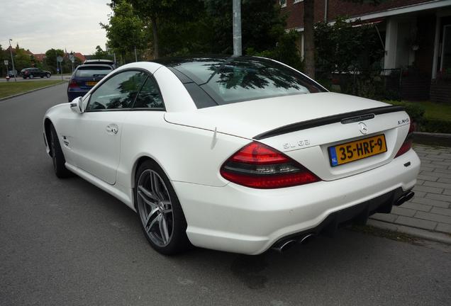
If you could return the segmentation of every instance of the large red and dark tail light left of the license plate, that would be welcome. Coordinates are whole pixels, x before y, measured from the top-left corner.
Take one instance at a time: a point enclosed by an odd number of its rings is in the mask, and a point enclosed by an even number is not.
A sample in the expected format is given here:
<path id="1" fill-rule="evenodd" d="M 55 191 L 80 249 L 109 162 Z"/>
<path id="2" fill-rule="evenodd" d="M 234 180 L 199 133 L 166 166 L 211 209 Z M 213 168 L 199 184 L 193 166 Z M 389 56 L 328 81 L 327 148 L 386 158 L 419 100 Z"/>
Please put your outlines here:
<path id="1" fill-rule="evenodd" d="M 321 181 L 285 154 L 251 142 L 233 154 L 221 167 L 224 179 L 251 188 L 283 188 Z"/>

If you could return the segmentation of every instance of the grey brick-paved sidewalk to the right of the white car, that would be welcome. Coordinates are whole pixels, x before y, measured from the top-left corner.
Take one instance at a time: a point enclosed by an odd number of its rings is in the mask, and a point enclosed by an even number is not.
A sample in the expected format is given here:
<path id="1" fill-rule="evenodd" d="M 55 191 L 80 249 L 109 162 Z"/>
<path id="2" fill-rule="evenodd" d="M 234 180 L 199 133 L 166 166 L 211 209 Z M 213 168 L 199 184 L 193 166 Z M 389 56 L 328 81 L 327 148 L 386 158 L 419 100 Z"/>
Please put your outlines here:
<path id="1" fill-rule="evenodd" d="M 421 159 L 415 196 L 372 219 L 451 234 L 451 147 L 415 145 Z"/>

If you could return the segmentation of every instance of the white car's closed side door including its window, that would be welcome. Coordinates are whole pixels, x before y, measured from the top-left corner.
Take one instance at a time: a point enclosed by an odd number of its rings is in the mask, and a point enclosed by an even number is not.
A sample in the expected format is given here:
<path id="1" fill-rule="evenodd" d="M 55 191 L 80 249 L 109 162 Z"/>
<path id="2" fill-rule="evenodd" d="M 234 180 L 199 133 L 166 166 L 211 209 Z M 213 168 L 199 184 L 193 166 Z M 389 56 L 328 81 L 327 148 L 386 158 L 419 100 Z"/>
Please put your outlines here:
<path id="1" fill-rule="evenodd" d="M 80 169 L 116 183 L 123 120 L 146 76 L 136 70 L 119 72 L 91 94 L 73 131 L 72 151 Z"/>

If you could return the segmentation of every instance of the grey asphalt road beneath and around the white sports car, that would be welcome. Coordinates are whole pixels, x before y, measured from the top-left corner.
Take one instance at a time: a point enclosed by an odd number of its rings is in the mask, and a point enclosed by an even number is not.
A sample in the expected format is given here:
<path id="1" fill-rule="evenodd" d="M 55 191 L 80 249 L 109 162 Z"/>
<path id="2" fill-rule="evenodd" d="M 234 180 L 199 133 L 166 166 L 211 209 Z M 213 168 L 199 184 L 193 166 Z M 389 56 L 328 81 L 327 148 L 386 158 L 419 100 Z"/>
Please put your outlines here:
<path id="1" fill-rule="evenodd" d="M 41 120 L 65 89 L 0 102 L 0 305 L 451 305 L 450 246 L 342 229 L 284 254 L 157 254 L 126 205 L 53 174 Z"/>

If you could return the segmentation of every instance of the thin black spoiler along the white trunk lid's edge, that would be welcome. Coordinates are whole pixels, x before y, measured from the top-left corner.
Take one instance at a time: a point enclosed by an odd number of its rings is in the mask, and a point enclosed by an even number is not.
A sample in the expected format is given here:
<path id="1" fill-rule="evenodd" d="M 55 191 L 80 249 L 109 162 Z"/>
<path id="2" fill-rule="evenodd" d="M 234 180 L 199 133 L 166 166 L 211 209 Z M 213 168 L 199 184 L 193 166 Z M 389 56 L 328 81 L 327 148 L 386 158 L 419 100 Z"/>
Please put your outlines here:
<path id="1" fill-rule="evenodd" d="M 312 120 L 302 121 L 300 123 L 291 123 L 289 125 L 284 125 L 280 128 L 275 128 L 267 132 L 262 132 L 261 134 L 253 137 L 255 140 L 262 140 L 265 138 L 286 134 L 289 132 L 296 132 L 299 130 L 306 130 L 308 128 L 315 128 L 321 125 L 328 125 L 331 123 L 353 123 L 362 120 L 368 120 L 374 118 L 375 115 L 380 115 L 384 113 L 395 113 L 398 111 L 404 111 L 403 106 L 382 106 L 378 108 L 367 108 L 361 111 L 352 111 L 348 113 L 340 113 L 338 115 L 330 115 L 326 117 L 316 118 Z"/>

